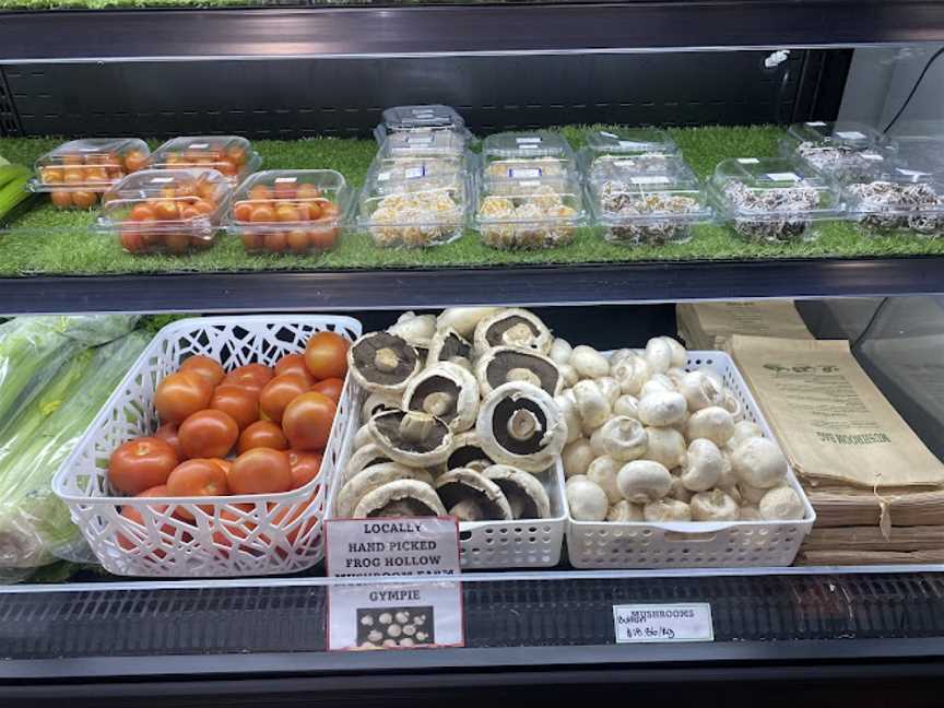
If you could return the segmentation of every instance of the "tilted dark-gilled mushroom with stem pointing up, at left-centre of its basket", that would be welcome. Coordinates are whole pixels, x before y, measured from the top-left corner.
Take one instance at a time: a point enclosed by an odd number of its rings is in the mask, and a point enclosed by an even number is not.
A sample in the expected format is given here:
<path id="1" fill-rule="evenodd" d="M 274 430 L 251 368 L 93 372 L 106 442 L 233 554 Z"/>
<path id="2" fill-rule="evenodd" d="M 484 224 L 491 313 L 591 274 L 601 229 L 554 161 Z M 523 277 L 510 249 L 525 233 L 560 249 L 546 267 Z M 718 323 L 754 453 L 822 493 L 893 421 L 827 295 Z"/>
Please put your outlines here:
<path id="1" fill-rule="evenodd" d="M 390 411 L 370 418 L 370 434 L 390 459 L 410 467 L 445 462 L 452 432 L 442 421 L 417 411 Z"/>

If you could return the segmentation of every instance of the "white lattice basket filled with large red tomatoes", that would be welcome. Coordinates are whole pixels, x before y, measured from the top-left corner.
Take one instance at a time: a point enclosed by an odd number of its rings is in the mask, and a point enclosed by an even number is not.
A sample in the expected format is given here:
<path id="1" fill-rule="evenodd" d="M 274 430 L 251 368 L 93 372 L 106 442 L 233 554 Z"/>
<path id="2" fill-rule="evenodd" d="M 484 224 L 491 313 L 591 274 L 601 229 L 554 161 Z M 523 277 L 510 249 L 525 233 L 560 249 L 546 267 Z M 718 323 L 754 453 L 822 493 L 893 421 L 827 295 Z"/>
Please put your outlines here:
<path id="1" fill-rule="evenodd" d="M 359 334 L 329 316 L 162 329 L 52 482 L 105 569 L 236 577 L 320 562 Z"/>

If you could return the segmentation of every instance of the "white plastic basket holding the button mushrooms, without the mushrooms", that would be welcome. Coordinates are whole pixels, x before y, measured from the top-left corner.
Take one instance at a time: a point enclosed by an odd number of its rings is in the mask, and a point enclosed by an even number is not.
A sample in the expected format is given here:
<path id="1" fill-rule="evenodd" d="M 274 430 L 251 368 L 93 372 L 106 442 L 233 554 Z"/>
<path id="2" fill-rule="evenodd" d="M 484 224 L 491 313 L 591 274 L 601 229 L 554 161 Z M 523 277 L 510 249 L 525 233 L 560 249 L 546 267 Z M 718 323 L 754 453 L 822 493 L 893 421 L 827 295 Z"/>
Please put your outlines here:
<path id="1" fill-rule="evenodd" d="M 686 370 L 717 374 L 764 435 L 776 440 L 731 357 L 688 352 Z M 792 469 L 788 484 L 803 502 L 802 521 L 685 521 L 673 523 L 576 521 L 568 510 L 567 553 L 577 568 L 740 568 L 789 566 L 816 512 Z"/>

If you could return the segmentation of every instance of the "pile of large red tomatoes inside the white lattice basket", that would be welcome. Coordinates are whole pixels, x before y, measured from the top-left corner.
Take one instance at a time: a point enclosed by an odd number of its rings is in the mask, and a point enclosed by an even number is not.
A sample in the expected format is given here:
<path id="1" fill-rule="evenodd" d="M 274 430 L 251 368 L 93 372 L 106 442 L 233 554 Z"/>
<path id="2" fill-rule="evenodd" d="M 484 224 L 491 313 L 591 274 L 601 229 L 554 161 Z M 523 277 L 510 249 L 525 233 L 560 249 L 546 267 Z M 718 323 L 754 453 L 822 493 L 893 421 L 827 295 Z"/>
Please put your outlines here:
<path id="1" fill-rule="evenodd" d="M 349 346 L 343 337 L 326 331 L 314 334 L 304 352 L 286 354 L 274 366 L 253 363 L 227 371 L 208 356 L 184 359 L 155 390 L 156 432 L 111 452 L 113 492 L 182 505 L 234 495 L 264 499 L 306 486 L 321 468 L 347 374 Z M 212 504 L 199 508 L 212 509 Z M 141 523 L 141 511 L 132 505 L 125 505 L 121 516 Z M 174 517 L 194 521 L 185 506 Z M 130 550 L 132 543 L 122 539 L 119 545 Z"/>

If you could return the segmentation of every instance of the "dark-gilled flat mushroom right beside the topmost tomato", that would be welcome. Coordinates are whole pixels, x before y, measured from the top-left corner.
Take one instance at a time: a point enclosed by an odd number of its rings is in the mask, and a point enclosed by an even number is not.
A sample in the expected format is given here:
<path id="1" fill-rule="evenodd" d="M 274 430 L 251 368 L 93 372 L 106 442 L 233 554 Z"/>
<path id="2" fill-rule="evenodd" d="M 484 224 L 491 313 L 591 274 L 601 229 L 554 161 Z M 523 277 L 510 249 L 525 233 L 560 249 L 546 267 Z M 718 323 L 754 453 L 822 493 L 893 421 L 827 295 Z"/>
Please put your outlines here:
<path id="1" fill-rule="evenodd" d="M 420 354 L 402 337 L 373 332 L 347 350 L 347 367 L 361 388 L 371 392 L 400 394 L 416 371 Z"/>

